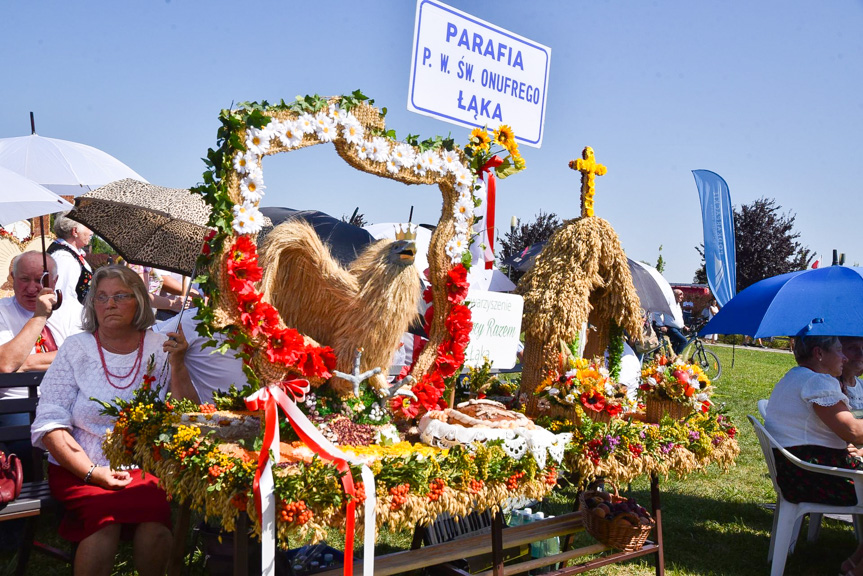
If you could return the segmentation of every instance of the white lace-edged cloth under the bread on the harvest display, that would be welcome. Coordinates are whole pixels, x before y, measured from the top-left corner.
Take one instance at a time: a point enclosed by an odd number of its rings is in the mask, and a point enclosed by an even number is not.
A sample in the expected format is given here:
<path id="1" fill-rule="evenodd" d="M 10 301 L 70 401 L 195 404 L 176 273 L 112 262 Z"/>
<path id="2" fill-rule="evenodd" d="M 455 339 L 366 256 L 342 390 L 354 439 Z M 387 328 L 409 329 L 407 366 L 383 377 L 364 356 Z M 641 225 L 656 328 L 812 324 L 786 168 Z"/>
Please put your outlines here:
<path id="1" fill-rule="evenodd" d="M 572 434 L 553 434 L 545 428 L 483 428 L 474 426 L 466 428 L 457 424 L 448 424 L 428 414 L 420 418 L 420 440 L 430 446 L 452 448 L 464 446 L 474 449 L 474 442 L 485 443 L 489 440 L 503 440 L 503 450 L 514 460 L 530 452 L 537 466 L 545 467 L 547 455 L 558 464 L 563 459 L 563 451 Z"/>

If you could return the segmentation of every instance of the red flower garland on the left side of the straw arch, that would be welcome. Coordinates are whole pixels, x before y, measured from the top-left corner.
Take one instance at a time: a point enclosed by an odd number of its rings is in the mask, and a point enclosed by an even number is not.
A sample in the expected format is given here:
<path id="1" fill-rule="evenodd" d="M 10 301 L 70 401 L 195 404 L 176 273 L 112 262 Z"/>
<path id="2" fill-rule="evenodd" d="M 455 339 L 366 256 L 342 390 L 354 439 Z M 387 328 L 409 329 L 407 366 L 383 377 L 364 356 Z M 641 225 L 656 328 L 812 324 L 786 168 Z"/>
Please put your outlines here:
<path id="1" fill-rule="evenodd" d="M 237 296 L 240 323 L 252 338 L 266 339 L 267 359 L 298 369 L 304 376 L 330 378 L 336 355 L 329 346 L 309 346 L 293 328 L 279 326 L 279 312 L 264 302 L 255 283 L 263 277 L 258 248 L 249 236 L 238 236 L 228 252 L 228 286 Z"/>

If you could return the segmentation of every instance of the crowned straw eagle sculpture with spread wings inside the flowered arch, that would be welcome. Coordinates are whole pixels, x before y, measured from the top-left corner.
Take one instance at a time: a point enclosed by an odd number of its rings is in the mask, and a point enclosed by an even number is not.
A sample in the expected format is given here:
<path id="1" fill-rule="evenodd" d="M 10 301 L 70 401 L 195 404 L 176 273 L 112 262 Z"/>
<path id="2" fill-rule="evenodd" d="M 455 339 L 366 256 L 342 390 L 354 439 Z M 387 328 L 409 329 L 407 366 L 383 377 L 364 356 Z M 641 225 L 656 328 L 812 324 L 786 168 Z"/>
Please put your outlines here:
<path id="1" fill-rule="evenodd" d="M 412 239 L 378 240 L 342 266 L 303 220 L 279 224 L 261 248 L 264 299 L 287 326 L 331 346 L 336 370 L 351 374 L 357 349 L 360 370 L 380 367 L 369 378 L 373 388 L 387 387 L 385 374 L 417 314 L 419 273 L 413 265 Z M 334 377 L 331 386 L 348 395 L 353 385 Z"/>

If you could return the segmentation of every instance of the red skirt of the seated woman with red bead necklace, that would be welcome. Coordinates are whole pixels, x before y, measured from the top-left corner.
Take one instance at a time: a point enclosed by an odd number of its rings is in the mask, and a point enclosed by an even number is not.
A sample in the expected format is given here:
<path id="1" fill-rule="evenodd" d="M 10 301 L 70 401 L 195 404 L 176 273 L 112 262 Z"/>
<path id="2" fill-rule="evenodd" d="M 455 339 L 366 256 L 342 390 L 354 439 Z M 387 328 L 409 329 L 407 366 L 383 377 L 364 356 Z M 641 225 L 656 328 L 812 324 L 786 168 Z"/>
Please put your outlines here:
<path id="1" fill-rule="evenodd" d="M 70 542 L 80 542 L 111 524 L 122 524 L 122 538 L 129 540 L 135 525 L 159 522 L 171 529 L 168 495 L 152 474 L 129 470 L 132 482 L 121 490 L 105 490 L 84 481 L 61 466 L 48 466 L 51 495 L 63 504 L 65 512 L 59 534 Z"/>

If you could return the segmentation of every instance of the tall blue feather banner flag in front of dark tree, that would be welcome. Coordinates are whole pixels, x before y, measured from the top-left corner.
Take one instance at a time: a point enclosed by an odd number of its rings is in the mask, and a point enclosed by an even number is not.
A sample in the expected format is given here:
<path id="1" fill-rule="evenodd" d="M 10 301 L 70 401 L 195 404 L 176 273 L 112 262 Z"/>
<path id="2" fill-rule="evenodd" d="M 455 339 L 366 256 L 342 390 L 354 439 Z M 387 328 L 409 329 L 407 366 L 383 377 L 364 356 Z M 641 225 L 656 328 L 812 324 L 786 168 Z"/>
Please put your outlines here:
<path id="1" fill-rule="evenodd" d="M 707 283 L 720 306 L 737 292 L 734 212 L 728 184 L 710 170 L 693 170 L 704 223 L 704 263 Z"/>

